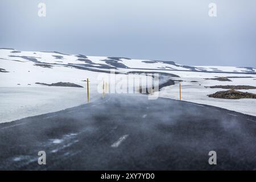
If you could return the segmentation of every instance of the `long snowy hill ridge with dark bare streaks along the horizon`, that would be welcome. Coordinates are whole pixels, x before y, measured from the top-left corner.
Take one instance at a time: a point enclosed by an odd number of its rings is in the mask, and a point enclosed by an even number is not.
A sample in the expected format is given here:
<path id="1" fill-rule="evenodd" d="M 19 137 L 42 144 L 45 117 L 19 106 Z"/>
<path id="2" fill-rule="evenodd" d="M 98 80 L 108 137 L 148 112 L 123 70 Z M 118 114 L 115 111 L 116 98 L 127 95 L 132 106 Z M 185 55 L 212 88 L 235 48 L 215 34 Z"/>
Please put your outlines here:
<path id="1" fill-rule="evenodd" d="M 73 67 L 88 69 L 90 71 L 104 69 L 154 69 L 170 71 L 194 71 L 194 72 L 236 72 L 256 73 L 255 68 L 241 67 L 216 67 L 176 64 L 174 61 L 137 60 L 126 57 L 98 57 L 84 55 L 68 55 L 60 52 L 30 52 L 15 49 L 0 48 L 0 59 L 20 62 L 31 62 L 40 67 Z M 4 69 L 4 68 L 2 68 Z"/>

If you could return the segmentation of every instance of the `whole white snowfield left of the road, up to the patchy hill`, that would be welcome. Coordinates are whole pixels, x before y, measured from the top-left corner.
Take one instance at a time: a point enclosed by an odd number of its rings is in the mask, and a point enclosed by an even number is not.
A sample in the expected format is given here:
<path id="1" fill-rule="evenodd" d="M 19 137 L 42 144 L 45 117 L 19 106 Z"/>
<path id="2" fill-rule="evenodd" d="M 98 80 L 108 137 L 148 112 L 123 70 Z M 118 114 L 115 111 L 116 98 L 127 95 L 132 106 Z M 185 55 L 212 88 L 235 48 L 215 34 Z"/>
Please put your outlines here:
<path id="1" fill-rule="evenodd" d="M 43 68 L 29 62 L 0 62 L 0 67 L 9 71 L 0 73 L 0 122 L 10 122 L 85 104 L 86 82 L 82 80 L 86 78 L 90 80 L 92 101 L 96 99 L 96 72 L 67 67 Z M 72 82 L 84 88 L 43 86 L 35 82 Z"/>

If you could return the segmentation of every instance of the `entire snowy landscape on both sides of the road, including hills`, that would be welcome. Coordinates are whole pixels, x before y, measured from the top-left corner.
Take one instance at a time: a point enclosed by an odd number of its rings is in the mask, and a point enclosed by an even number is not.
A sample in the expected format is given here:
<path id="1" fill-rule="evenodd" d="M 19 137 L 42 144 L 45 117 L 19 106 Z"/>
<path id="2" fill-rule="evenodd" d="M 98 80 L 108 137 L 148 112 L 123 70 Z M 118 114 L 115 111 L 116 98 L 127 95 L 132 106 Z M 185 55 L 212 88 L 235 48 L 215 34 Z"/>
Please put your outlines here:
<path id="1" fill-rule="evenodd" d="M 225 89 L 205 88 L 205 86 L 214 85 L 256 86 L 254 68 L 186 67 L 166 61 L 65 55 L 57 52 L 28 52 L 13 49 L 0 49 L 0 68 L 7 71 L 0 72 L 0 123 L 86 104 L 86 82 L 84 81 L 86 78 L 89 78 L 90 81 L 90 102 L 93 102 L 102 96 L 97 91 L 98 85 L 102 85 L 102 78 L 99 76 L 102 75 L 102 71 L 109 71 L 110 68 L 115 68 L 117 72 L 121 73 L 130 71 L 172 73 L 180 76 L 171 77 L 172 80 L 182 80 L 182 100 L 256 116 L 256 100 L 209 98 L 208 94 Z M 105 73 L 105 75 L 109 76 L 110 74 Z M 120 80 L 118 77 L 121 77 L 122 74 L 115 76 L 116 80 Z M 204 79 L 220 76 L 251 76 L 253 78 L 229 78 L 232 82 Z M 137 75 L 134 75 L 134 78 L 137 79 Z M 35 82 L 46 84 L 72 82 L 84 86 L 84 88 L 43 86 L 35 84 Z M 256 93 L 255 89 L 241 91 Z M 175 85 L 162 88 L 159 96 L 179 99 L 178 82 Z"/>

